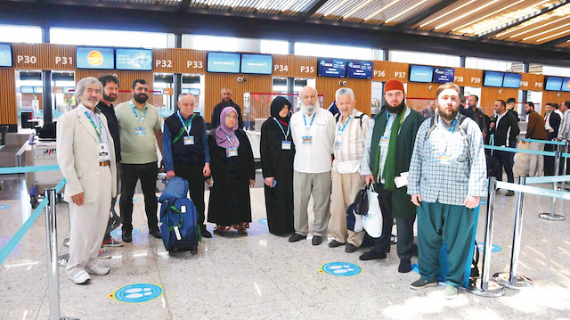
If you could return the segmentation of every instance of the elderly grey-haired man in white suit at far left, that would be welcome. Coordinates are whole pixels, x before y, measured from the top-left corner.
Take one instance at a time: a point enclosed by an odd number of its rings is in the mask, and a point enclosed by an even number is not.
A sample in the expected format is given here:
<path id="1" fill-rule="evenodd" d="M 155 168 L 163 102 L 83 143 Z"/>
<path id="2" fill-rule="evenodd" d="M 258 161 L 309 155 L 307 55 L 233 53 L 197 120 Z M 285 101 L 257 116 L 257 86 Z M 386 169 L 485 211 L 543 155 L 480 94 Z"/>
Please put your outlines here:
<path id="1" fill-rule="evenodd" d="M 107 119 L 96 107 L 102 94 L 97 78 L 77 82 L 77 108 L 57 123 L 57 162 L 65 177 L 64 200 L 69 202 L 69 261 L 65 269 L 77 284 L 89 274 L 107 275 L 95 265 L 107 221 L 109 203 L 117 194 L 115 147 Z"/>

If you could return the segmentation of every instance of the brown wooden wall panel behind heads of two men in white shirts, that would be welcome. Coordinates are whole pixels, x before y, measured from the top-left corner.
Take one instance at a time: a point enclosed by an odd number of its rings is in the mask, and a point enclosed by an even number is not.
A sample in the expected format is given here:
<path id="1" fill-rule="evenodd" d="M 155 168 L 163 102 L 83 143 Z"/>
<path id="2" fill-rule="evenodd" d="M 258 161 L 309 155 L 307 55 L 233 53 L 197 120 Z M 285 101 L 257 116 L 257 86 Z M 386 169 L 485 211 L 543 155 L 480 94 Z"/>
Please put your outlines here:
<path id="1" fill-rule="evenodd" d="M 316 79 L 317 91 L 324 96 L 323 108 L 327 108 L 330 103 L 335 101 L 337 90 L 343 86 L 338 85 L 338 81 L 346 81 L 346 86 L 353 89 L 354 100 L 356 100 L 356 109 L 362 111 L 369 116 L 371 115 L 371 80 L 354 79 L 354 78 L 325 78 Z"/>

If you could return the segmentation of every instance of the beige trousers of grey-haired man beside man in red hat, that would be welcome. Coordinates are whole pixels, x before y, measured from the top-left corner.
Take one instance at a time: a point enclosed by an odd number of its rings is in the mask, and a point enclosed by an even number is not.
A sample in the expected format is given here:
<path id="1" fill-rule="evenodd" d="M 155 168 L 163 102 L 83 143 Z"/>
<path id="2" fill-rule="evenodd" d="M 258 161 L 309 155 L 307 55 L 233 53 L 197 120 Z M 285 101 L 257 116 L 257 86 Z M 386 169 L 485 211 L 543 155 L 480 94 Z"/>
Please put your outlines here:
<path id="1" fill-rule="evenodd" d="M 332 170 L 332 204 L 329 233 L 340 243 L 351 243 L 360 247 L 364 231 L 355 233 L 346 229 L 346 209 L 354 202 L 354 197 L 364 187 L 364 178 L 358 173 L 340 174 Z"/>

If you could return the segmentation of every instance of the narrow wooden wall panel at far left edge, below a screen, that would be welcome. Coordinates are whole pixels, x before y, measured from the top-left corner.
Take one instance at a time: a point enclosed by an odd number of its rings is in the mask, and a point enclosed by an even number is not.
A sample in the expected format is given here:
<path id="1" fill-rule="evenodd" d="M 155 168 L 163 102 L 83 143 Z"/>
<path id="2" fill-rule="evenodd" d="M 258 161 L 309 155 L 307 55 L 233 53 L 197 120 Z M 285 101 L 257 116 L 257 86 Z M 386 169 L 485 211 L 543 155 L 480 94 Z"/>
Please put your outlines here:
<path id="1" fill-rule="evenodd" d="M 0 124 L 18 123 L 16 108 L 16 73 L 12 68 L 0 68 Z"/>

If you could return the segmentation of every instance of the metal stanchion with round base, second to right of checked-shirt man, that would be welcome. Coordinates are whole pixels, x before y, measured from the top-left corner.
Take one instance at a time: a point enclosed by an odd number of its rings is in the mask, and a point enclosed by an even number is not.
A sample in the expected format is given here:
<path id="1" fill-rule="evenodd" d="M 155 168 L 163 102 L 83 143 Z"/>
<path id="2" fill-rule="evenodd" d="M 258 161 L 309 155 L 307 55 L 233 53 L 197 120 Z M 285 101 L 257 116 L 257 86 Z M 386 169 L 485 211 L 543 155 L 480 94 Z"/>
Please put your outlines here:
<path id="1" fill-rule="evenodd" d="M 525 185 L 525 176 L 518 177 L 518 185 Z M 513 245 L 510 253 L 510 272 L 496 273 L 493 281 L 501 283 L 509 289 L 523 289 L 533 287 L 533 281 L 524 275 L 517 275 L 518 256 L 520 255 L 521 235 L 523 234 L 523 205 L 525 193 L 517 191 L 517 207 L 515 209 L 515 231 L 513 234 Z"/>

